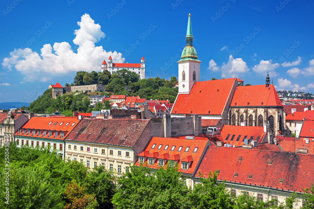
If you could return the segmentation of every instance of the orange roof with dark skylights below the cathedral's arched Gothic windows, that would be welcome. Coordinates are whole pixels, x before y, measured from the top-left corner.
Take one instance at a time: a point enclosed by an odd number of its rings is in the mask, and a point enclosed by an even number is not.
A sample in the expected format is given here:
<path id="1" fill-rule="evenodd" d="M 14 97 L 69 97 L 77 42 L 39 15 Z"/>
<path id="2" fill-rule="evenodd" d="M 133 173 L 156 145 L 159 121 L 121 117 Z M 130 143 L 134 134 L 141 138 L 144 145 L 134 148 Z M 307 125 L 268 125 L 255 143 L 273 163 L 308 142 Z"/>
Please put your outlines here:
<path id="1" fill-rule="evenodd" d="M 222 142 L 225 144 L 233 144 L 238 146 L 242 146 L 244 144 L 244 137 L 246 136 L 247 139 L 253 137 L 252 140 L 257 140 L 257 143 L 262 143 L 263 138 L 265 137 L 266 132 L 264 132 L 264 127 L 260 126 L 231 126 L 231 125 L 224 125 L 221 129 L 221 139 Z M 228 136 L 229 135 L 229 136 Z M 240 138 L 239 138 L 240 136 Z M 228 139 L 227 139 L 228 138 Z M 227 139 L 227 140 L 226 140 Z M 252 141 L 250 140 L 250 142 Z"/>

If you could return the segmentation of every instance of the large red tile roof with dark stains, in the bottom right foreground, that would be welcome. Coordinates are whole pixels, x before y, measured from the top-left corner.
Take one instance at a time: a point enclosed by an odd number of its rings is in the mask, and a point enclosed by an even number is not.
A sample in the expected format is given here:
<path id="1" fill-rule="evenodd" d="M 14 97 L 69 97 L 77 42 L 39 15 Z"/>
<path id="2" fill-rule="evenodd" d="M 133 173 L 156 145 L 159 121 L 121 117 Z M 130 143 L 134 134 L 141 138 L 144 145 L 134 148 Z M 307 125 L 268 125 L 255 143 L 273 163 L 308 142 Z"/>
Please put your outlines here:
<path id="1" fill-rule="evenodd" d="M 239 157 L 242 158 L 239 161 Z M 272 161 L 268 165 L 268 161 Z M 313 155 L 257 149 L 209 147 L 195 176 L 220 170 L 218 179 L 303 192 L 314 181 Z M 235 176 L 235 173 L 238 173 Z M 248 178 L 252 175 L 252 178 Z M 279 183 L 283 179 L 283 183 Z"/>

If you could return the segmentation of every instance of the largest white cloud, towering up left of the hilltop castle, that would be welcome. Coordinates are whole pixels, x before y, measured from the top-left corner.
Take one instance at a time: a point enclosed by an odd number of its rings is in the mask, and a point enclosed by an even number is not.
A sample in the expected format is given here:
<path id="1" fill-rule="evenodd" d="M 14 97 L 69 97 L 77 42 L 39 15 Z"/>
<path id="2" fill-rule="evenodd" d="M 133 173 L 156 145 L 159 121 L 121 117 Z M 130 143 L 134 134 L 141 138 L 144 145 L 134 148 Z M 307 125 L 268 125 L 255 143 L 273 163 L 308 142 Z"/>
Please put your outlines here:
<path id="1" fill-rule="evenodd" d="M 95 46 L 100 39 L 105 38 L 99 24 L 84 14 L 80 27 L 74 31 L 76 35 L 73 43 L 78 45 L 77 53 L 73 52 L 67 42 L 54 43 L 53 46 L 45 44 L 41 48 L 41 56 L 29 48 L 14 49 L 10 57 L 3 59 L 3 67 L 11 71 L 15 68 L 26 75 L 23 81 L 34 81 L 38 78 L 47 80 L 48 76 L 60 76 L 63 73 L 76 71 L 100 71 L 103 60 L 111 57 L 113 62 L 124 62 L 122 54 L 116 51 L 107 52 L 102 46 Z M 31 75 L 31 76 L 30 76 Z"/>

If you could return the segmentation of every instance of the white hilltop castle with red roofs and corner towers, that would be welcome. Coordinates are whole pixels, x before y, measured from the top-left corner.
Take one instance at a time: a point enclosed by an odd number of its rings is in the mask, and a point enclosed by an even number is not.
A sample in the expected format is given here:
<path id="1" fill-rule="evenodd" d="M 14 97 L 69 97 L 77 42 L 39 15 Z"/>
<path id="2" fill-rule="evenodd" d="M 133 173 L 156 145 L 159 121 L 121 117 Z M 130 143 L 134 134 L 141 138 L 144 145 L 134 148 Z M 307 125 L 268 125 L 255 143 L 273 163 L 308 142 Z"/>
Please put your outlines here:
<path id="1" fill-rule="evenodd" d="M 109 56 L 108 65 L 105 60 L 101 65 L 101 72 L 107 70 L 111 73 L 111 75 L 112 73 L 122 69 L 134 72 L 139 75 L 140 79 L 143 79 L 145 78 L 145 59 L 142 57 L 141 63 L 114 63 L 112 61 L 112 57 Z"/>

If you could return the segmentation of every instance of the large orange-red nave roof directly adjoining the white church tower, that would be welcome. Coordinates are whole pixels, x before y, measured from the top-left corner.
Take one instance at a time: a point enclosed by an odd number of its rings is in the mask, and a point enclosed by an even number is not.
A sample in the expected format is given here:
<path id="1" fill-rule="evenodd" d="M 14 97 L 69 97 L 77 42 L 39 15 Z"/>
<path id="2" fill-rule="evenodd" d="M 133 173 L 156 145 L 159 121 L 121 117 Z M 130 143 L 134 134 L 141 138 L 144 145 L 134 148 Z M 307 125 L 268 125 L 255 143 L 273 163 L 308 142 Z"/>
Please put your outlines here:
<path id="1" fill-rule="evenodd" d="M 229 78 L 195 82 L 189 94 L 178 94 L 171 114 L 221 115 L 229 108 L 225 106 L 232 97 L 235 81 Z"/>

